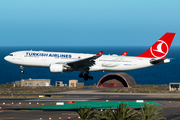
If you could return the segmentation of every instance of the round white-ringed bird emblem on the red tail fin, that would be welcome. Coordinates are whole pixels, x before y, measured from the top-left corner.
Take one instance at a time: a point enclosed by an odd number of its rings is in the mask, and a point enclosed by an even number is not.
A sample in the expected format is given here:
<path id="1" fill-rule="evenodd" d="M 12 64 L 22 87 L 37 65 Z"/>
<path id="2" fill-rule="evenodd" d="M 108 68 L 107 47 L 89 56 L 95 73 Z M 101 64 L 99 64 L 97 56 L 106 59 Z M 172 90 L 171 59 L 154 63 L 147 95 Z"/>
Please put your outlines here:
<path id="1" fill-rule="evenodd" d="M 158 40 L 157 43 L 150 48 L 150 51 L 154 57 L 163 58 L 167 55 L 168 49 L 166 42 Z"/>

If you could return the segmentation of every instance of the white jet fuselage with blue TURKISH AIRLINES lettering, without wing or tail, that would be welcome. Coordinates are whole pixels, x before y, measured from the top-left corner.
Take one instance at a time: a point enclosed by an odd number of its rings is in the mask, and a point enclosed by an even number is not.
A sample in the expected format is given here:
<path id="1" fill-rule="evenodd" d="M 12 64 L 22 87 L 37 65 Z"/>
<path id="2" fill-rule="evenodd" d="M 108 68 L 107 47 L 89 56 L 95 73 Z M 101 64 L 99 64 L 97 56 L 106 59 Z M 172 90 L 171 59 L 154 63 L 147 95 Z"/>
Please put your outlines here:
<path id="1" fill-rule="evenodd" d="M 47 67 L 51 64 L 65 64 L 93 56 L 94 54 L 44 52 L 44 51 L 18 51 L 13 52 L 4 59 L 10 63 L 28 67 Z M 102 55 L 89 67 L 89 71 L 129 71 L 154 66 L 150 63 L 152 58 L 129 57 L 118 55 Z M 78 71 L 78 69 L 73 69 Z"/>

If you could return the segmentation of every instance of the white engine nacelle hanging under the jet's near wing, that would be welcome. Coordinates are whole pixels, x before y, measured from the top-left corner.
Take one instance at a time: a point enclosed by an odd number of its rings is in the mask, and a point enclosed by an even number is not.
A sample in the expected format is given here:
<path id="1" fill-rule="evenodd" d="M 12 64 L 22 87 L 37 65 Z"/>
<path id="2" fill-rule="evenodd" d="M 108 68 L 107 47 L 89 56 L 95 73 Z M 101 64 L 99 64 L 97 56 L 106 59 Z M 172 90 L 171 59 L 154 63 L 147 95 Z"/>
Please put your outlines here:
<path id="1" fill-rule="evenodd" d="M 72 72 L 73 69 L 64 64 L 51 64 L 49 66 L 50 72 Z"/>

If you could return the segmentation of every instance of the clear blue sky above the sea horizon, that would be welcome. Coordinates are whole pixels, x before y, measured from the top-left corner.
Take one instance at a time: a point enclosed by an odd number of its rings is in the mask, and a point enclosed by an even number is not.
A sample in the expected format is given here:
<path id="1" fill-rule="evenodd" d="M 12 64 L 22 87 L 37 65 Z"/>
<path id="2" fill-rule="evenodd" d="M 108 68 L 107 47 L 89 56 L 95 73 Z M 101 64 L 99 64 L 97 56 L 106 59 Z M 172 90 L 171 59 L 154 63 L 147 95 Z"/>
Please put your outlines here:
<path id="1" fill-rule="evenodd" d="M 175 32 L 180 0 L 0 0 L 0 46 L 151 46 Z"/>

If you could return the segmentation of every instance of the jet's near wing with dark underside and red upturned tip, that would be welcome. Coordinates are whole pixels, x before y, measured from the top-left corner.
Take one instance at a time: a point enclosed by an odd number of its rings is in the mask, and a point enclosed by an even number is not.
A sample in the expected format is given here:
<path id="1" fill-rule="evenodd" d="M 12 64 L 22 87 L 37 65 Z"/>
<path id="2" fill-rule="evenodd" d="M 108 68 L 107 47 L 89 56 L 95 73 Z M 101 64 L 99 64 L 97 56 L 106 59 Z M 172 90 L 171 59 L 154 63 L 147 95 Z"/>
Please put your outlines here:
<path id="1" fill-rule="evenodd" d="M 70 61 L 70 62 L 67 62 L 66 64 L 71 67 L 78 67 L 78 66 L 90 67 L 93 64 L 95 64 L 95 60 L 97 58 L 99 58 L 100 56 L 102 56 L 102 54 L 103 54 L 103 51 L 100 51 L 98 54 L 96 54 L 92 57 L 83 58 L 83 59 L 79 59 L 79 60 L 75 60 L 75 61 Z"/>

